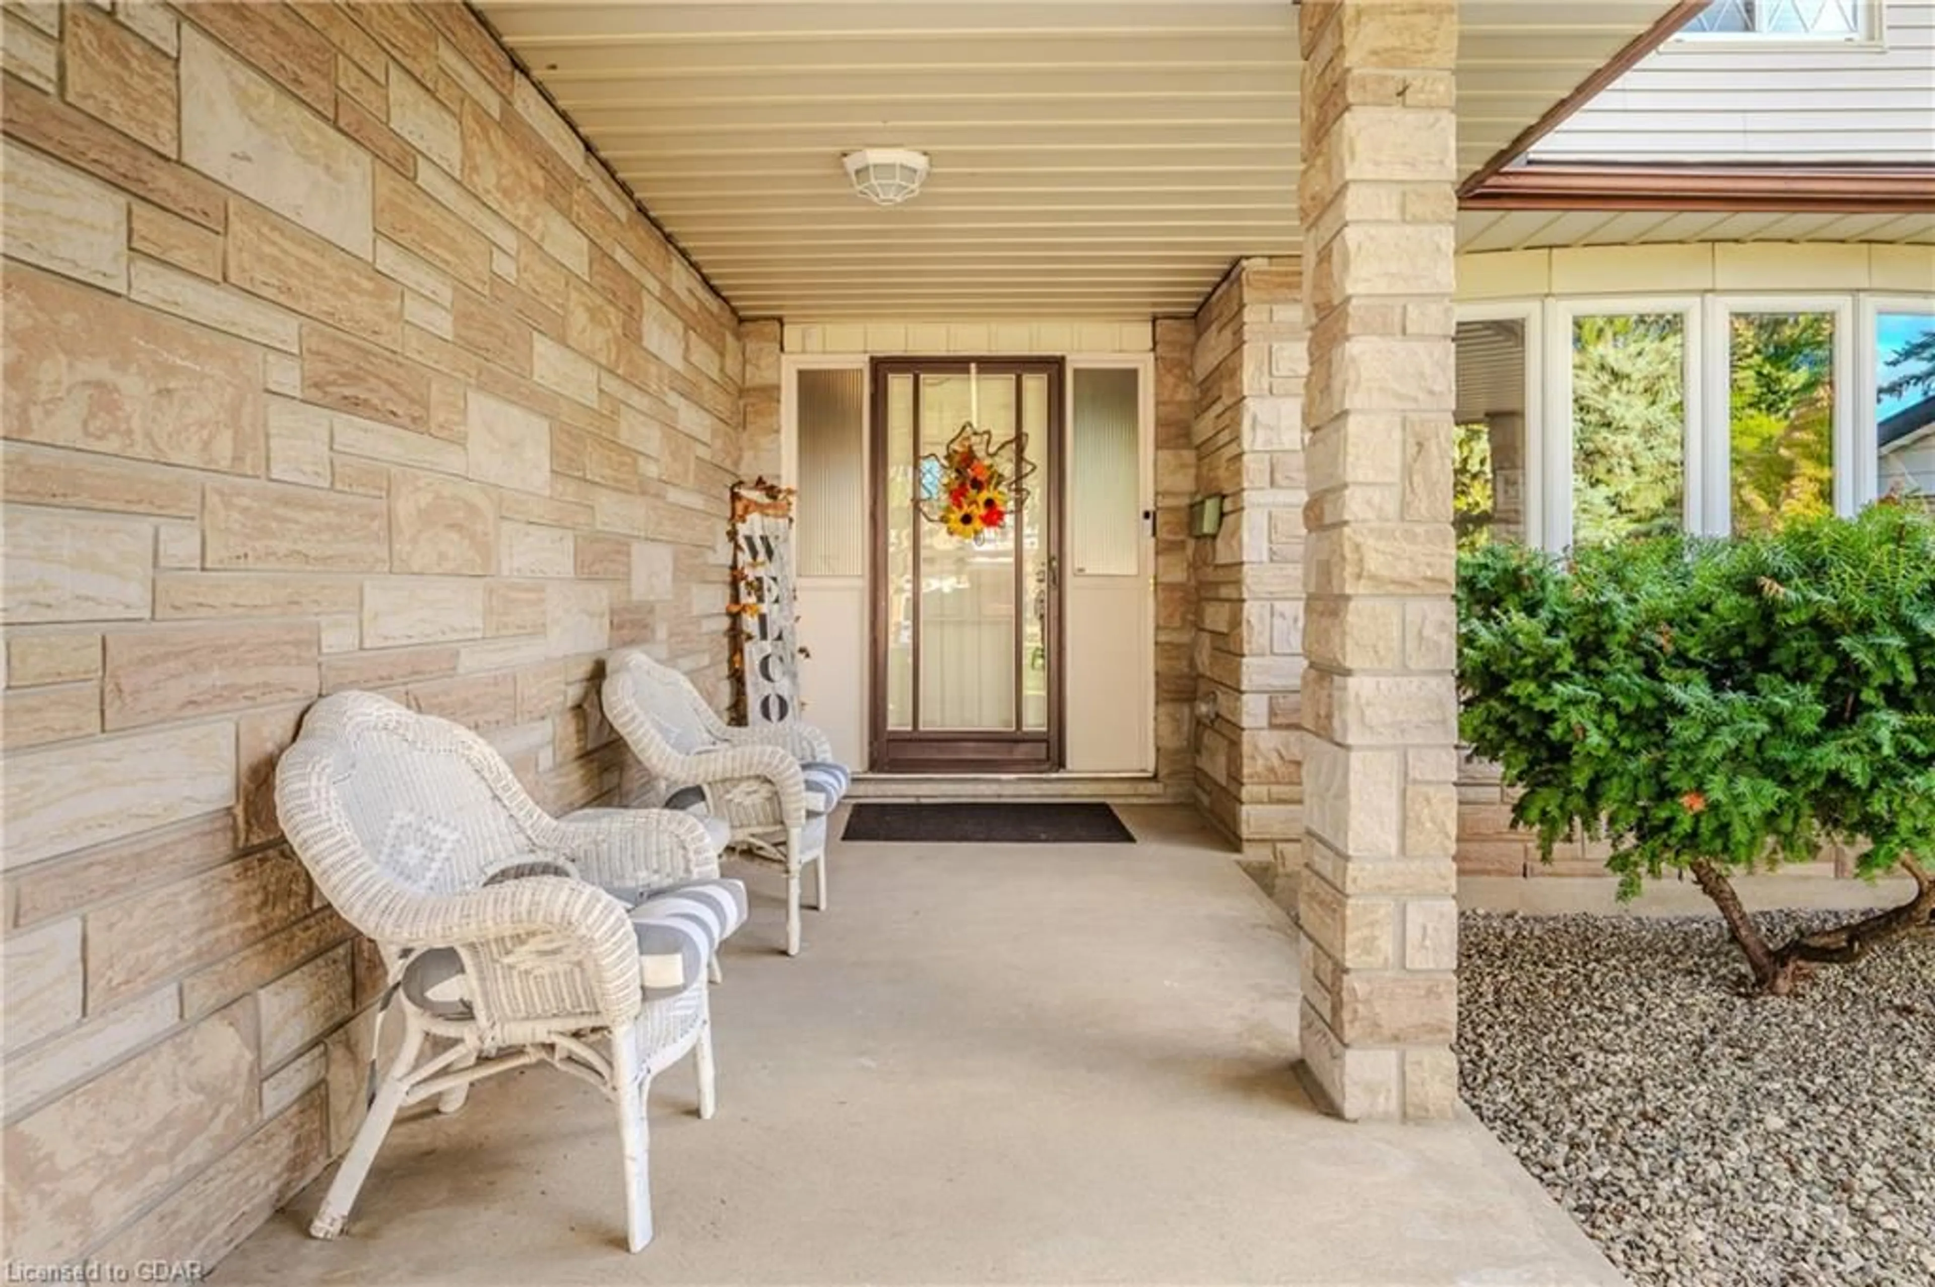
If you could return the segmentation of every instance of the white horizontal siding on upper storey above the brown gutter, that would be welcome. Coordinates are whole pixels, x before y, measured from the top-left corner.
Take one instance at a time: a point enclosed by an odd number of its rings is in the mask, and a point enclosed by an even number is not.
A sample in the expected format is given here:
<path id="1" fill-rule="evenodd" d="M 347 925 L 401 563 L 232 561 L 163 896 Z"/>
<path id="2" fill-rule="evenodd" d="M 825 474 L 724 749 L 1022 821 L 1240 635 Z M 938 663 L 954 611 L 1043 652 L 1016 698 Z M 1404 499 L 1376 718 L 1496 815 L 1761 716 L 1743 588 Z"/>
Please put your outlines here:
<path id="1" fill-rule="evenodd" d="M 1887 0 L 1879 43 L 1668 41 L 1533 161 L 1931 163 L 1935 0 Z"/>

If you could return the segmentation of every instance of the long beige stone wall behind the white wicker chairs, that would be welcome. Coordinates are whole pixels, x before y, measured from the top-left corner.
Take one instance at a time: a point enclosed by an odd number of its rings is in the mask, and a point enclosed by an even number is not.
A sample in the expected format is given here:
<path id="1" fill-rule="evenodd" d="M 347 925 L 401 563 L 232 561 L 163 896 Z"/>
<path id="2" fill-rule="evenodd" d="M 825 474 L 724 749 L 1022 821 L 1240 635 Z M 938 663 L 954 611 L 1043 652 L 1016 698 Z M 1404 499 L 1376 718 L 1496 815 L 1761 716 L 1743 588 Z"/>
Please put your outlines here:
<path id="1" fill-rule="evenodd" d="M 21 4 L 4 85 L 4 1241 L 215 1258 L 341 1152 L 377 962 L 279 842 L 319 693 L 606 795 L 724 685 L 731 312 L 457 4 Z"/>

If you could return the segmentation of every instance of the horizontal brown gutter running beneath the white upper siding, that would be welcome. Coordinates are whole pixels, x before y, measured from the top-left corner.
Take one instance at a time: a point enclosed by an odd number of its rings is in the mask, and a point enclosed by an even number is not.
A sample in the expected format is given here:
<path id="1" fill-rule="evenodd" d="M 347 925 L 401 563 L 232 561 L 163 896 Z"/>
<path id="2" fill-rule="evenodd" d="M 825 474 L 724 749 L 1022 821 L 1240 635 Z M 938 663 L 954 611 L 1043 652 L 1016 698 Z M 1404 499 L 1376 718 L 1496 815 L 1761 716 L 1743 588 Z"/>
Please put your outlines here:
<path id="1" fill-rule="evenodd" d="M 1467 211 L 1935 211 L 1935 166 L 1523 165 L 1459 201 Z"/>

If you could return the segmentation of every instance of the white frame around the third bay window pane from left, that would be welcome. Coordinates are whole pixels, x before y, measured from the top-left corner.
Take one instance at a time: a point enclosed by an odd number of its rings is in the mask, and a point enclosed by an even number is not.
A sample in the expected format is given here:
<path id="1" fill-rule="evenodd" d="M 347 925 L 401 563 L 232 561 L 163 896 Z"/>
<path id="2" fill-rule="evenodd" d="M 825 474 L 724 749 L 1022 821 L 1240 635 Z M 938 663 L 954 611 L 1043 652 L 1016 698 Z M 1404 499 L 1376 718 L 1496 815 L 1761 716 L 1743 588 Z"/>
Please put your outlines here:
<path id="1" fill-rule="evenodd" d="M 1711 536 L 1728 536 L 1734 530 L 1734 443 L 1732 443 L 1732 389 L 1734 389 L 1734 331 L 1728 319 L 1734 314 L 1831 314 L 1834 317 L 1834 430 L 1829 447 L 1832 468 L 1834 513 L 1852 515 L 1860 509 L 1860 455 L 1854 401 L 1854 296 L 1850 294 L 1709 294 L 1707 296 L 1707 424 L 1712 432 L 1703 443 L 1703 474 L 1707 521 L 1701 528 Z M 1873 416 L 1867 416 L 1867 435 L 1873 437 Z M 1869 453 L 1873 455 L 1873 453 Z M 1842 468 L 1842 464 L 1852 468 Z M 1869 461 L 1867 470 L 1875 464 Z"/>

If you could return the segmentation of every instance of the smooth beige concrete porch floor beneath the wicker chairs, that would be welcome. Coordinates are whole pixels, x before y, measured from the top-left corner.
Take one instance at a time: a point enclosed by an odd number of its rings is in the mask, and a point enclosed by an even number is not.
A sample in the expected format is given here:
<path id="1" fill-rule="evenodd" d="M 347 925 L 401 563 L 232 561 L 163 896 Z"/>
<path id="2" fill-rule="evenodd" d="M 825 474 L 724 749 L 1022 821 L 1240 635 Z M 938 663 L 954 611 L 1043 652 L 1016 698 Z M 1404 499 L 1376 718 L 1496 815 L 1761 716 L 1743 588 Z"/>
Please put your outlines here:
<path id="1" fill-rule="evenodd" d="M 623 1250 L 611 1109 L 551 1070 L 399 1122 L 348 1233 L 321 1181 L 217 1283 L 1620 1283 L 1469 1115 L 1347 1124 L 1296 1086 L 1296 941 L 1176 807 L 1136 846 L 836 844 L 780 879 L 652 1093 L 658 1237 Z M 325 1177 L 327 1179 L 327 1173 Z"/>

